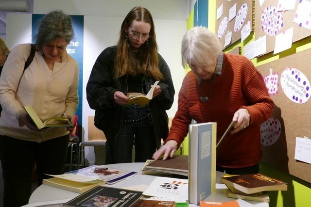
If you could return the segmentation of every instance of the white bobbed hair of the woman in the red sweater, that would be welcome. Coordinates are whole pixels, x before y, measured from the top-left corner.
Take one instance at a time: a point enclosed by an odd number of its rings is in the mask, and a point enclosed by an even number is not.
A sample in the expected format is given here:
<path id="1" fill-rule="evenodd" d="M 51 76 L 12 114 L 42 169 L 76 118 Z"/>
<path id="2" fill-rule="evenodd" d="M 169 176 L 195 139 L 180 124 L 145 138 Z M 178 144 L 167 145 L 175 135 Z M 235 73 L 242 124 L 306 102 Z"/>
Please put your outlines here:
<path id="1" fill-rule="evenodd" d="M 193 27 L 181 42 L 181 59 L 185 68 L 189 65 L 210 65 L 222 51 L 218 37 L 206 27 Z"/>

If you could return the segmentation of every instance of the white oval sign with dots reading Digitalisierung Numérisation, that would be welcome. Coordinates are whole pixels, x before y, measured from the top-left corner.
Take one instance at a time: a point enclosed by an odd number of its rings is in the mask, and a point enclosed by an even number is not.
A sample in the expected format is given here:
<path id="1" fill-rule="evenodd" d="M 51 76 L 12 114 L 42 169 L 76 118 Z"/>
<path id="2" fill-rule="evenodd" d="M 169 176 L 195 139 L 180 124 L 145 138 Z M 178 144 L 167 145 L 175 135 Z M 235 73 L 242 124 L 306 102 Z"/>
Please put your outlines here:
<path id="1" fill-rule="evenodd" d="M 299 70 L 286 67 L 281 74 L 281 87 L 284 94 L 293 102 L 302 104 L 310 98 L 310 82 Z"/>

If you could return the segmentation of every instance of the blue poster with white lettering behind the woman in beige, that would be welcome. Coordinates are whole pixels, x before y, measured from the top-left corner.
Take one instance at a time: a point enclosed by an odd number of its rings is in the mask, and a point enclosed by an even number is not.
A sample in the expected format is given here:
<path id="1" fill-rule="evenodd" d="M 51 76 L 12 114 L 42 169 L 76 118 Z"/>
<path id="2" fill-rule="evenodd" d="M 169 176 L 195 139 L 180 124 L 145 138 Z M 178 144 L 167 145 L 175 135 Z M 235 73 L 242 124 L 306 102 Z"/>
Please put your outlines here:
<path id="1" fill-rule="evenodd" d="M 40 20 L 44 15 L 32 15 L 32 43 L 35 43 L 35 35 L 37 33 L 37 28 L 39 27 Z M 72 27 L 74 30 L 74 37 L 70 41 L 66 50 L 67 53 L 73 57 L 79 65 L 79 105 L 76 114 L 78 115 L 78 125 L 82 126 L 82 80 L 83 80 L 83 27 L 84 27 L 84 16 L 72 15 Z M 82 128 L 82 127 L 79 127 Z M 79 134 L 81 137 L 81 134 Z"/>

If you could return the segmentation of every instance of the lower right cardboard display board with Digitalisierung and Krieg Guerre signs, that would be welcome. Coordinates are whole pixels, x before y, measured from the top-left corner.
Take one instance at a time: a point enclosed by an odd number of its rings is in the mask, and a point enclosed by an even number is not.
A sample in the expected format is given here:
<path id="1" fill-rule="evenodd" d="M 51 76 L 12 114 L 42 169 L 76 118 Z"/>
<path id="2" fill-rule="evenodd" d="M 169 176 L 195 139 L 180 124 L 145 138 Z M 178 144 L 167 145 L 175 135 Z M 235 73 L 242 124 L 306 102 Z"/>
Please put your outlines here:
<path id="1" fill-rule="evenodd" d="M 262 161 L 308 182 L 311 164 L 296 160 L 295 150 L 296 137 L 311 139 L 310 57 L 308 49 L 257 67 L 275 102 L 271 118 L 260 128 Z M 303 150 L 310 159 L 310 144 Z"/>

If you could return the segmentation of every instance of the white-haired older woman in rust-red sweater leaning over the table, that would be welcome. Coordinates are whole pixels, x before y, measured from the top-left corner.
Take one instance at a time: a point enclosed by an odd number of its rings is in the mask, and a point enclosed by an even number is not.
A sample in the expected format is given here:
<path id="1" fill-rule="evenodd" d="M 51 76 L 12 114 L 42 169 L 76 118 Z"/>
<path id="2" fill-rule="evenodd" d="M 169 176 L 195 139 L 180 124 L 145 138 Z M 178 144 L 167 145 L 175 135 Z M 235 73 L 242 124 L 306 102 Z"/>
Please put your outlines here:
<path id="1" fill-rule="evenodd" d="M 259 125 L 270 117 L 274 103 L 255 66 L 244 56 L 221 49 L 216 34 L 207 28 L 194 27 L 184 35 L 182 64 L 188 64 L 191 71 L 183 80 L 170 133 L 153 158 L 173 157 L 192 119 L 217 122 L 218 142 L 231 121 L 236 121 L 217 148 L 216 170 L 258 173 L 262 156 Z"/>

